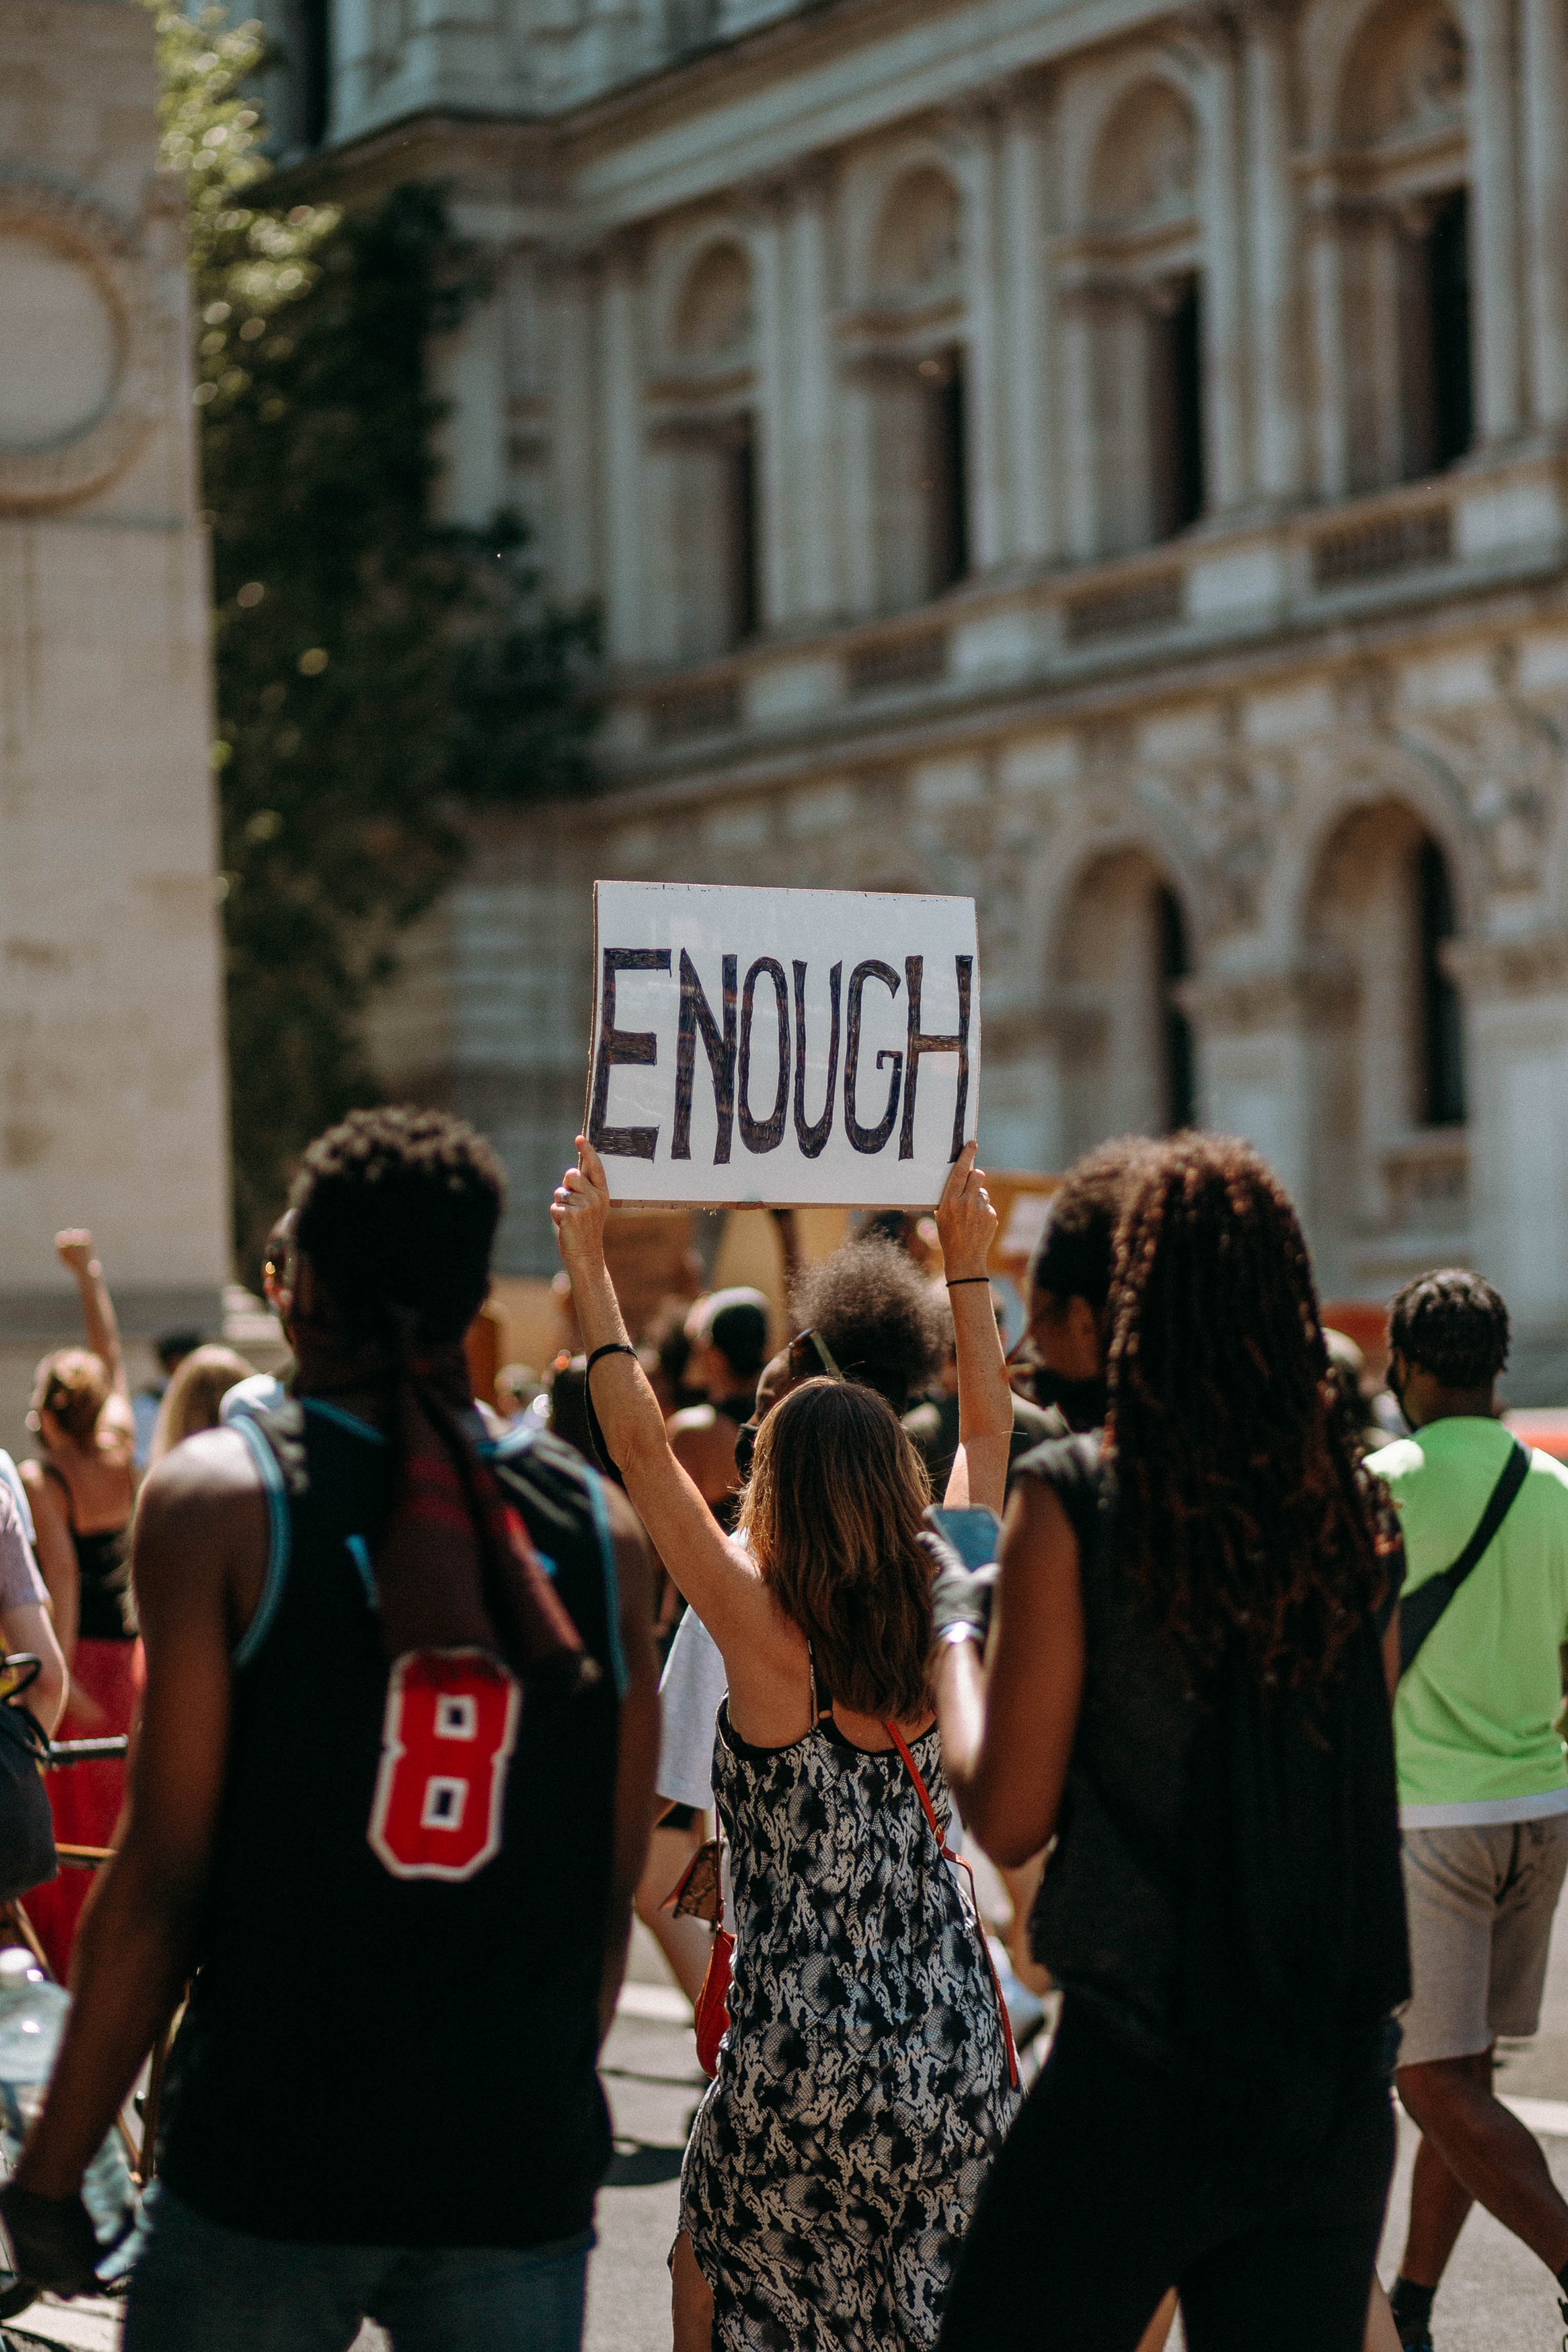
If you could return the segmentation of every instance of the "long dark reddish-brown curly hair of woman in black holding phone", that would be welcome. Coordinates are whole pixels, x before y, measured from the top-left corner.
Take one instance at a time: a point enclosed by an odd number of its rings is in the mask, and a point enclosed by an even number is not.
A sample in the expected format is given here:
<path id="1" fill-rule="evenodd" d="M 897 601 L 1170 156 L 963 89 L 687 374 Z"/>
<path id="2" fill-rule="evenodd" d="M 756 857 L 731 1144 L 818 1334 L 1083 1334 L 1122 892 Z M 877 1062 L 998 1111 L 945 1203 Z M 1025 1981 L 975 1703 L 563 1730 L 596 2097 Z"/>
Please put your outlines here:
<path id="1" fill-rule="evenodd" d="M 1124 1557 L 1192 1670 L 1328 1679 L 1380 1585 L 1295 1209 L 1248 1143 L 1171 1136 L 1121 1211 L 1105 1454 Z"/>

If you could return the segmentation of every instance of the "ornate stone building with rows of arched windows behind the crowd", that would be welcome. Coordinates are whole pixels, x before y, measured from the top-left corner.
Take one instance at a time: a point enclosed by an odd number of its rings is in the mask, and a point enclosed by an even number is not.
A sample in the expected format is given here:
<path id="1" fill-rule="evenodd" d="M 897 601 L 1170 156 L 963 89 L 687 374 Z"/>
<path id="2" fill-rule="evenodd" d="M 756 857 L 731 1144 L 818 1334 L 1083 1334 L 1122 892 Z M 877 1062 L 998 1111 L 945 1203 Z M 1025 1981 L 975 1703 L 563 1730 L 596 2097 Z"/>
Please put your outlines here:
<path id="1" fill-rule="evenodd" d="M 487 821 L 381 1049 L 520 1185 L 595 875 L 973 891 L 983 1148 L 1190 1117 L 1328 1296 L 1472 1258 L 1568 1392 L 1561 0 L 292 0 L 442 179 L 454 513 L 602 600 L 602 788 Z"/>

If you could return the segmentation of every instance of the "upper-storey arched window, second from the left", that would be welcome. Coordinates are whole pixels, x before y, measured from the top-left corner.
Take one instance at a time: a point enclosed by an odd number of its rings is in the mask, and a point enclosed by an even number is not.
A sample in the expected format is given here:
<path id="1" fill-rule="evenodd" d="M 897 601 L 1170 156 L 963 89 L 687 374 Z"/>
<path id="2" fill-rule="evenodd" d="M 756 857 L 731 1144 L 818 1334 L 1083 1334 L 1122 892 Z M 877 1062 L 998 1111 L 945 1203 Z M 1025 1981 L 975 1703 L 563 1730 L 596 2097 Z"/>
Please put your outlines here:
<path id="1" fill-rule="evenodd" d="M 959 198 L 922 165 L 891 191 L 872 240 L 879 348 L 865 365 L 872 405 L 872 574 L 879 612 L 903 612 L 969 572 Z"/>

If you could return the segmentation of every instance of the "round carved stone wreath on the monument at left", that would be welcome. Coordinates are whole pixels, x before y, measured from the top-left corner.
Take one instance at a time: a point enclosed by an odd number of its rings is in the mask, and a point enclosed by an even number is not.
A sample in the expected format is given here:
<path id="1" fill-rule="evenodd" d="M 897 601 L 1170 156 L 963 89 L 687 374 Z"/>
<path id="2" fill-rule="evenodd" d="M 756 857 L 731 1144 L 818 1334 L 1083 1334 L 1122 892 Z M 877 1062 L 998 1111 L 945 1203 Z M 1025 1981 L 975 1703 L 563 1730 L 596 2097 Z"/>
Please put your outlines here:
<path id="1" fill-rule="evenodd" d="M 0 235 L 31 235 L 85 268 L 108 303 L 120 355 L 108 400 L 78 430 L 40 449 L 0 447 L 0 513 L 33 515 L 106 489 L 160 419 L 162 336 L 153 273 L 99 205 L 47 181 L 0 181 Z"/>

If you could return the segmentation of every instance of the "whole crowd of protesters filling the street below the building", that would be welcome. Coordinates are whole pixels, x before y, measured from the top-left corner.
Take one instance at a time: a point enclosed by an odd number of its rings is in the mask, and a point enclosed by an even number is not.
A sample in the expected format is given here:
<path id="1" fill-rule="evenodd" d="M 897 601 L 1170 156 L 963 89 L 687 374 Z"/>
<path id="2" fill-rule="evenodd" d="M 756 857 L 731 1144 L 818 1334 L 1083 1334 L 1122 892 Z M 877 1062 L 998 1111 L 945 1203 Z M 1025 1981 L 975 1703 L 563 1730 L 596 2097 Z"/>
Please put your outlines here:
<path id="1" fill-rule="evenodd" d="M 1406 1284 L 1375 1390 L 1262 1160 L 1182 1134 L 1067 1174 L 1013 1355 L 973 1145 L 933 1225 L 806 1265 L 780 1216 L 785 1329 L 630 1331 L 581 1141 L 574 1343 L 475 1399 L 501 1197 L 458 1120 L 355 1112 L 268 1244 L 289 1376 L 169 1334 L 139 1395 L 59 1237 L 0 1637 L 40 1738 L 134 1755 L 49 1776 L 115 1851 L 26 1898 L 73 2011 L 19 2274 L 92 2284 L 183 2011 L 127 2352 L 569 2352 L 635 1910 L 712 2077 L 675 2352 L 1157 2352 L 1178 2303 L 1192 2352 L 1429 2352 L 1472 2204 L 1568 2298 L 1493 2089 L 1568 1875 L 1568 1472 L 1497 1291 Z"/>

